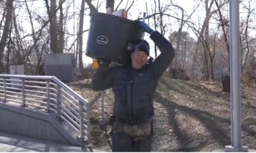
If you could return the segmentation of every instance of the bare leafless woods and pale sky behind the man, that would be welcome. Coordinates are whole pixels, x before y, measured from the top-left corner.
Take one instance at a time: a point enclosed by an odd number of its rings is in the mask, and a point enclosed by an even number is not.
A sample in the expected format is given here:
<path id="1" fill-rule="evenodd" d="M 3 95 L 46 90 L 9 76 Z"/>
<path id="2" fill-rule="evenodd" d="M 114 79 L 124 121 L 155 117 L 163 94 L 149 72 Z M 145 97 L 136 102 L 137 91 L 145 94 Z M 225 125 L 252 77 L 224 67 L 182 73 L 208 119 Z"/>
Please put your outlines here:
<path id="1" fill-rule="evenodd" d="M 75 53 L 78 71 L 85 71 L 85 25 L 89 14 L 126 9 L 139 0 L 1 0 L 0 73 L 10 65 L 25 65 L 26 74 L 44 75 L 44 58 L 50 53 Z M 182 3 L 193 0 L 184 0 Z M 186 80 L 219 81 L 229 73 L 229 1 L 194 0 L 192 11 L 177 1 L 145 1 L 145 22 L 169 38 L 175 58 L 167 73 Z M 253 0 L 240 1 L 242 82 L 256 82 L 255 7 Z M 121 7 L 123 6 L 123 7 Z M 125 7 L 124 7 L 125 6 Z M 153 53 L 152 53 L 153 52 Z M 151 50 L 157 56 L 157 48 Z"/>

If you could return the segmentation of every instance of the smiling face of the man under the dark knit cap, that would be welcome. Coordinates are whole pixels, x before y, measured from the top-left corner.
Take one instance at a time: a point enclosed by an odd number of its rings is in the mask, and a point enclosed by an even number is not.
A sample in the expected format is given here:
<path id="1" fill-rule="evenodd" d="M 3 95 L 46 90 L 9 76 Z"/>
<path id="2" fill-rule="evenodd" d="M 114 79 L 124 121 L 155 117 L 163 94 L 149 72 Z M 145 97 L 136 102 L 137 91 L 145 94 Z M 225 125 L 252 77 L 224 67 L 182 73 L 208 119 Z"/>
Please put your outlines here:
<path id="1" fill-rule="evenodd" d="M 134 69 L 141 69 L 147 63 L 147 53 L 143 51 L 132 52 L 131 57 Z"/>

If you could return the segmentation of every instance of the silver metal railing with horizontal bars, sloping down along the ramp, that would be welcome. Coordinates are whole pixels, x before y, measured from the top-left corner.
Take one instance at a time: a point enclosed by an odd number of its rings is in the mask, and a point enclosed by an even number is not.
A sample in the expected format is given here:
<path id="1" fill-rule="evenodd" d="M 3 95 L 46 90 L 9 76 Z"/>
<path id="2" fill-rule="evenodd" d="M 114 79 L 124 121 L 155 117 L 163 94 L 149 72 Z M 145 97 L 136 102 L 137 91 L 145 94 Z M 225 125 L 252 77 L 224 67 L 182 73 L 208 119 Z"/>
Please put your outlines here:
<path id="1" fill-rule="evenodd" d="M 0 101 L 55 114 L 90 143 L 88 101 L 55 76 L 0 74 Z"/>

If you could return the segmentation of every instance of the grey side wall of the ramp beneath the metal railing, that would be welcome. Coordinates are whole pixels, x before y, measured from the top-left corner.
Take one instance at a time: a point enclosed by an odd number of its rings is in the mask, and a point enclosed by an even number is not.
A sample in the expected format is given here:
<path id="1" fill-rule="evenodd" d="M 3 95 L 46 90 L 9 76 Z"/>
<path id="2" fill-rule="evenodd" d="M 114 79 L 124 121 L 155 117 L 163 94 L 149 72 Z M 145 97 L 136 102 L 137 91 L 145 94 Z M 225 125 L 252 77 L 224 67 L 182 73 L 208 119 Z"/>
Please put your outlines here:
<path id="1" fill-rule="evenodd" d="M 0 103 L 0 131 L 81 146 L 79 133 L 51 114 Z"/>

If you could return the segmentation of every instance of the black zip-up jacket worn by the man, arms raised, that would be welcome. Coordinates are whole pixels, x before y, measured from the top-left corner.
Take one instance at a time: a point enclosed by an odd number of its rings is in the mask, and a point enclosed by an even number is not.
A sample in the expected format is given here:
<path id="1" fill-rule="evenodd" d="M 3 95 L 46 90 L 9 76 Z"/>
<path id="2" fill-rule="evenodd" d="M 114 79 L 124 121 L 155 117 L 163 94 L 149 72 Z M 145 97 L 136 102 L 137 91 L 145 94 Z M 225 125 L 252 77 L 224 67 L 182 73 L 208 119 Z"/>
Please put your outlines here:
<path id="1" fill-rule="evenodd" d="M 154 91 L 160 76 L 173 60 L 174 50 L 169 41 L 157 31 L 154 31 L 150 38 L 161 53 L 143 69 L 137 70 L 131 66 L 100 66 L 93 75 L 93 90 L 113 89 L 113 115 L 117 120 L 147 120 L 154 115 Z"/>

